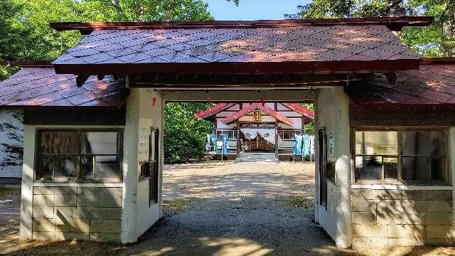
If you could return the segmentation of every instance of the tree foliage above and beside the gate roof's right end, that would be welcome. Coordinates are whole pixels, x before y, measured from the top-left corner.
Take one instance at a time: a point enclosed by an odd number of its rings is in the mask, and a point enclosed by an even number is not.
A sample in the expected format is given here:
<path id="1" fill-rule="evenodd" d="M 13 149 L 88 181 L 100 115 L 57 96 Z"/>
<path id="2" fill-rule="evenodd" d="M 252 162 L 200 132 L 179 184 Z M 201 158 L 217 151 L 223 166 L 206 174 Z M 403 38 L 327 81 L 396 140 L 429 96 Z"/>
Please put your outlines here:
<path id="1" fill-rule="evenodd" d="M 455 55 L 455 0 L 314 0 L 285 18 L 434 16 L 425 28 L 408 27 L 400 38 L 423 56 Z"/>

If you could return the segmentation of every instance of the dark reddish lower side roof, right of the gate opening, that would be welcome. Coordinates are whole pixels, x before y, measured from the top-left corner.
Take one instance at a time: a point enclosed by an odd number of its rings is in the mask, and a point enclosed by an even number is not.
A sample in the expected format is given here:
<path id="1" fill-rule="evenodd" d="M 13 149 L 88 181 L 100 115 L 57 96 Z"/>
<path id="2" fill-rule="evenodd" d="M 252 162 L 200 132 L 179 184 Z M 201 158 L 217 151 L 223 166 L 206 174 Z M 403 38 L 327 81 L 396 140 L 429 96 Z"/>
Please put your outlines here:
<path id="1" fill-rule="evenodd" d="M 419 70 L 399 71 L 397 81 L 373 77 L 347 88 L 356 105 L 447 105 L 455 103 L 455 58 L 427 58 Z"/>

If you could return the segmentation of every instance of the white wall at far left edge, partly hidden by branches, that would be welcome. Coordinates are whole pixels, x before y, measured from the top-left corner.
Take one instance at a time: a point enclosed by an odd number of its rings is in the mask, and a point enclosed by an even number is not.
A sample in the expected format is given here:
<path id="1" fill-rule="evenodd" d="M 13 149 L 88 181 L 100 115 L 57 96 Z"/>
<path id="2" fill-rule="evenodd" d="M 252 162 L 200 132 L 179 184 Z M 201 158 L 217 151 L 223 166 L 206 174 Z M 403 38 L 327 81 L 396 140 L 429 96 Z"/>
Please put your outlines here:
<path id="1" fill-rule="evenodd" d="M 11 112 L 0 110 L 0 122 L 13 124 L 16 127 L 23 127 L 23 124 L 13 117 Z M 0 143 L 16 143 L 6 137 L 6 132 L 0 132 Z M 6 154 L 0 151 L 0 161 L 3 161 Z M 21 178 L 22 166 L 0 167 L 0 178 Z"/>

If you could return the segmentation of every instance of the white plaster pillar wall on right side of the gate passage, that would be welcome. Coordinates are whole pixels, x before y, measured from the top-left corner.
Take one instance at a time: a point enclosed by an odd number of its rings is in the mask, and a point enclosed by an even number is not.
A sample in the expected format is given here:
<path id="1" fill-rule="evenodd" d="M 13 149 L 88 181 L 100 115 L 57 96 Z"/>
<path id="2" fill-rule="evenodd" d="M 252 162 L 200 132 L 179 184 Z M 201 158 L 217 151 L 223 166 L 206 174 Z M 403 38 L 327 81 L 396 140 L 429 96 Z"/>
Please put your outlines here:
<path id="1" fill-rule="evenodd" d="M 328 161 L 335 163 L 336 184 L 328 189 L 327 198 L 334 206 L 319 206 L 319 166 L 316 162 L 316 220 L 327 230 L 338 247 L 350 247 L 352 239 L 350 204 L 350 124 L 349 100 L 342 87 L 319 89 L 316 102 L 315 151 L 318 151 L 317 129 L 326 127 L 327 149 L 329 134 L 335 134 L 334 154 Z M 319 156 L 317 161 L 319 161 Z M 330 183 L 330 182 L 329 182 Z M 330 187 L 330 186 L 328 186 Z M 333 210 L 335 209 L 335 210 Z"/>

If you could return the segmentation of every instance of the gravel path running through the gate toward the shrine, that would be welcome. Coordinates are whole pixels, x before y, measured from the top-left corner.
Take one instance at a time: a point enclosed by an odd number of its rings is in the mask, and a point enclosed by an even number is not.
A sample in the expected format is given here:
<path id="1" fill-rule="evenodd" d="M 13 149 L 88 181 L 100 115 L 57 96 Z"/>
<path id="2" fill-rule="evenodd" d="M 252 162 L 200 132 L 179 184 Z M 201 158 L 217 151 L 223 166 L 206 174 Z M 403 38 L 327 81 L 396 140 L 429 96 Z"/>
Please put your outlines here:
<path id="1" fill-rule="evenodd" d="M 165 170 L 166 218 L 128 254 L 151 247 L 166 255 L 341 253 L 312 221 L 314 164 L 218 161 Z"/>

